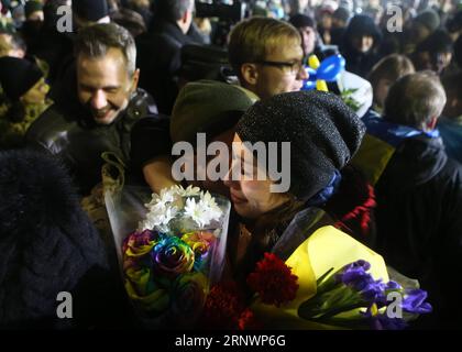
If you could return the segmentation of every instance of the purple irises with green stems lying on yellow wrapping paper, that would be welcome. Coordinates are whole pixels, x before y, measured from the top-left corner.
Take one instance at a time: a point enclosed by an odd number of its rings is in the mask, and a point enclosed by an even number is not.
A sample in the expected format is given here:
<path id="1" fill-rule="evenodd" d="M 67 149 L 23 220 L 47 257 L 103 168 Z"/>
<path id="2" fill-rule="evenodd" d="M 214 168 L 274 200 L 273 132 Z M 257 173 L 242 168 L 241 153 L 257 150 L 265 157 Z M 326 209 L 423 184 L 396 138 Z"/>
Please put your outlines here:
<path id="1" fill-rule="evenodd" d="M 304 319 L 354 329 L 400 330 L 418 315 L 431 312 L 427 293 L 398 283 L 375 280 L 371 264 L 359 260 L 317 280 L 317 293 L 298 307 Z"/>

